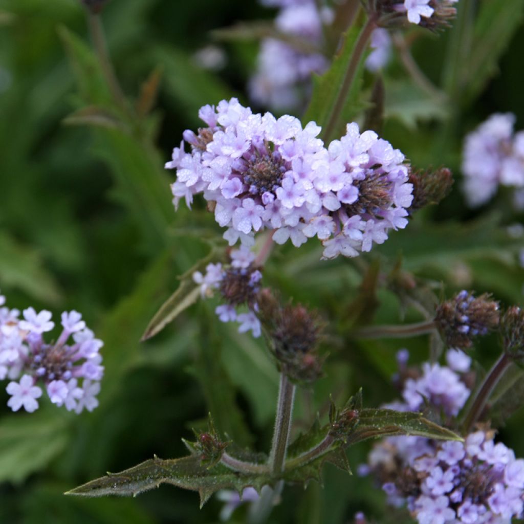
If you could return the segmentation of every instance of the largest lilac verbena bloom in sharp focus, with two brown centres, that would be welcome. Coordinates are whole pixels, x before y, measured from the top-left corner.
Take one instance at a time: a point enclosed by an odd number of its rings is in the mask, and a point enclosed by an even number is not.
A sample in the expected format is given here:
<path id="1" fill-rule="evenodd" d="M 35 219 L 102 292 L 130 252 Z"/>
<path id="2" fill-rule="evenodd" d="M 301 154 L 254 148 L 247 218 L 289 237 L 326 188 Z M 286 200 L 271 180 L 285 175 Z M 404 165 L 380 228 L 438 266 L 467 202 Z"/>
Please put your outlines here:
<path id="1" fill-rule="evenodd" d="M 297 118 L 252 113 L 236 99 L 206 105 L 199 116 L 208 127 L 183 134 L 191 152 L 182 141 L 166 163 L 177 169 L 173 202 L 191 205 L 203 193 L 230 245 L 253 245 L 255 232 L 269 228 L 278 244 L 298 247 L 316 236 L 324 258 L 354 257 L 406 227 L 408 166 L 373 131 L 348 124 L 325 148 L 314 122 L 302 128 Z"/>

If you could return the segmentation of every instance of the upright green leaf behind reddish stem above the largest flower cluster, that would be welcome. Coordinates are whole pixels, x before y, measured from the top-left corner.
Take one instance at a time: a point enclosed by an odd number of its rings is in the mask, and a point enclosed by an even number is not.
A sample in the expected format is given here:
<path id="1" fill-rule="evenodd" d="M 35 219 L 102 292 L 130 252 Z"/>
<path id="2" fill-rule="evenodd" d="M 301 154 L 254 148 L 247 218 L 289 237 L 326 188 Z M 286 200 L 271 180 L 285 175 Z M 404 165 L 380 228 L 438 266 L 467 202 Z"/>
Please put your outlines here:
<path id="1" fill-rule="evenodd" d="M 333 60 L 330 69 L 321 77 L 313 77 L 311 102 L 302 118 L 304 125 L 310 121 L 314 121 L 325 129 L 326 124 L 330 121 L 336 100 L 343 89 L 346 71 L 353 57 L 353 51 L 359 35 L 359 28 L 356 26 L 348 30 L 344 35 L 342 49 Z M 366 53 L 362 53 L 362 57 L 360 57 L 358 61 L 353 82 L 351 83 L 351 88 L 346 93 L 344 108 L 338 118 L 339 123 L 342 123 L 341 127 L 345 126 L 346 122 L 352 122 L 355 119 L 355 115 L 365 107 L 360 100 L 365 57 Z M 337 131 L 339 131 L 339 129 L 333 129 L 333 132 Z"/>

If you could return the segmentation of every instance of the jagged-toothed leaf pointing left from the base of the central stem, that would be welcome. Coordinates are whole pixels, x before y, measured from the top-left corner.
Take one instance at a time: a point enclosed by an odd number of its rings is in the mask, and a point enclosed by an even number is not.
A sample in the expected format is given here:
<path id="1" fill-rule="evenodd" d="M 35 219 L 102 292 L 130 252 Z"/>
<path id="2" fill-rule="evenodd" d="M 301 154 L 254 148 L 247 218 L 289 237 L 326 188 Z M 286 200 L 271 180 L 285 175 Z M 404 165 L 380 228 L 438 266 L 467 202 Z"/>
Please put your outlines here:
<path id="1" fill-rule="evenodd" d="M 104 497 L 107 495 L 137 496 L 160 484 L 171 484 L 190 489 L 200 494 L 200 505 L 220 489 L 235 489 L 238 493 L 246 487 L 253 487 L 260 492 L 265 484 L 272 485 L 272 480 L 265 475 L 241 475 L 222 464 L 206 468 L 201 464 L 198 454 L 181 459 L 162 460 L 158 457 L 120 473 L 108 473 L 106 476 L 71 489 L 65 495 L 83 497 Z"/>

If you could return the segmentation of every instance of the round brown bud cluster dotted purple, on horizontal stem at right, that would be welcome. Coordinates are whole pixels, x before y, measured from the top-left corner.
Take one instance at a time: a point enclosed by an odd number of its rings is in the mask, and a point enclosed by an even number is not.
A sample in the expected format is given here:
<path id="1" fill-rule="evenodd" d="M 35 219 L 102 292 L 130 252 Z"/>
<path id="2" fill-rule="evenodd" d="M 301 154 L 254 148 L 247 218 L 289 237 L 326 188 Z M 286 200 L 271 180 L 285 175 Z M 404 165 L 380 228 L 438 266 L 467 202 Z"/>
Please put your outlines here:
<path id="1" fill-rule="evenodd" d="M 475 298 L 462 290 L 436 309 L 435 323 L 452 347 L 468 348 L 477 335 L 487 335 L 498 327 L 499 304 L 488 294 Z"/>

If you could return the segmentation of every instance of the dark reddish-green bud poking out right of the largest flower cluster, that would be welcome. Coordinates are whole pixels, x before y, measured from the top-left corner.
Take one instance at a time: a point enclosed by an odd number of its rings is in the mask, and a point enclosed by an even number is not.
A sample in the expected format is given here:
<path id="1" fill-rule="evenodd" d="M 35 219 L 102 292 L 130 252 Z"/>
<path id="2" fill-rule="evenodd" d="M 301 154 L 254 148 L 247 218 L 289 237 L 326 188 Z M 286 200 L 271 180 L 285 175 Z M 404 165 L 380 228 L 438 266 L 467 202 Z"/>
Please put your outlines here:
<path id="1" fill-rule="evenodd" d="M 409 182 L 413 184 L 413 201 L 410 210 L 416 211 L 443 200 L 451 191 L 453 174 L 445 167 L 434 171 L 413 170 L 409 173 Z"/>

